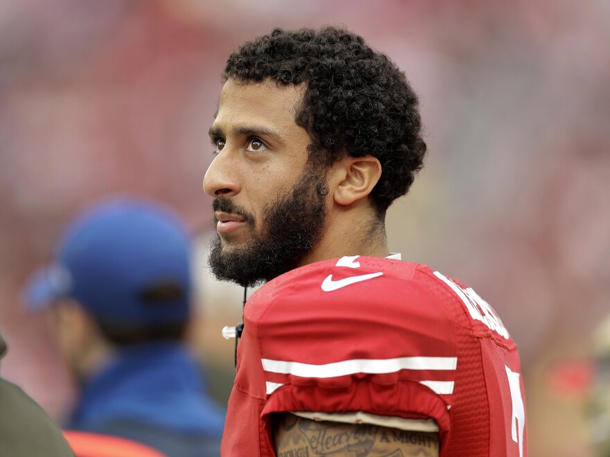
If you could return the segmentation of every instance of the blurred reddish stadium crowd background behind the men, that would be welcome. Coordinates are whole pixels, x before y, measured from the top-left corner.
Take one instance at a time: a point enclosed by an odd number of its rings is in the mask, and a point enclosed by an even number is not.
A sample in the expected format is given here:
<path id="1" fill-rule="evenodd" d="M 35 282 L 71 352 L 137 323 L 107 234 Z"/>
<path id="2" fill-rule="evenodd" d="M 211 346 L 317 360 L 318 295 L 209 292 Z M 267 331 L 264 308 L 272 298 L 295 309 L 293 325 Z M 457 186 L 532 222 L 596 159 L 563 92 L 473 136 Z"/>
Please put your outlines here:
<path id="1" fill-rule="evenodd" d="M 28 0 L 0 3 L 2 374 L 60 417 L 73 399 L 49 316 L 21 287 L 78 210 L 116 194 L 175 208 L 200 243 L 193 347 L 230 388 L 241 290 L 205 267 L 201 181 L 229 52 L 274 26 L 343 24 L 421 96 L 427 165 L 390 248 L 473 286 L 521 349 L 532 456 L 586 456 L 589 334 L 610 307 L 607 0 Z M 220 374 L 218 374 L 220 373 Z"/>

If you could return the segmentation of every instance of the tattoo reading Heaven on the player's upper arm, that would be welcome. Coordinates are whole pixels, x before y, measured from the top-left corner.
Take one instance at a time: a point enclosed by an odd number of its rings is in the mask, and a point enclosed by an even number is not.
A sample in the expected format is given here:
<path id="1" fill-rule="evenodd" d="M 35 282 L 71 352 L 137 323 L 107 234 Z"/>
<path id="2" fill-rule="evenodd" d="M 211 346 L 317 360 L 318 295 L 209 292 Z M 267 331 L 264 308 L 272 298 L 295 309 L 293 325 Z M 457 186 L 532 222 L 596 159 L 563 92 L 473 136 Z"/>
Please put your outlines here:
<path id="1" fill-rule="evenodd" d="M 367 424 L 346 428 L 333 422 L 299 421 L 299 430 L 318 456 L 338 452 L 356 457 L 366 456 L 374 445 L 378 429 Z"/>

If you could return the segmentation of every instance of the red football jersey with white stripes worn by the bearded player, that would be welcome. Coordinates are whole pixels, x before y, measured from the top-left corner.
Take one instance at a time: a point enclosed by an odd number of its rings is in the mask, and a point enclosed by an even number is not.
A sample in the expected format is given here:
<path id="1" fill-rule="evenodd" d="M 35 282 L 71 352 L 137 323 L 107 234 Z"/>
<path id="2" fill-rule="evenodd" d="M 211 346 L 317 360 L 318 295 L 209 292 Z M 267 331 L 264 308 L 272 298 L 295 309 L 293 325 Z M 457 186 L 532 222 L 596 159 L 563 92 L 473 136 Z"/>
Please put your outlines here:
<path id="1" fill-rule="evenodd" d="M 275 456 L 285 411 L 433 419 L 441 456 L 527 455 L 514 341 L 489 304 L 416 263 L 324 260 L 263 285 L 244 309 L 225 457 Z"/>

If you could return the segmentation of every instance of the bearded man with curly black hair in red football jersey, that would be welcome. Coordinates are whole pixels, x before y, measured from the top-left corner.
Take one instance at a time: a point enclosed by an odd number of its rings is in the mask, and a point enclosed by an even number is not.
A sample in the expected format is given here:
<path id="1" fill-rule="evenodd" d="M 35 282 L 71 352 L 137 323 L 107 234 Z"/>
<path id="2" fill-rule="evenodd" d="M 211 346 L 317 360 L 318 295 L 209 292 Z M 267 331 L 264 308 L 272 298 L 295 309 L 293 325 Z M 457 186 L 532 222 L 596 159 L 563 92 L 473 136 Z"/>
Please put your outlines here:
<path id="1" fill-rule="evenodd" d="M 390 254 L 421 168 L 417 96 L 347 30 L 229 57 L 210 136 L 210 266 L 244 308 L 223 456 L 525 456 L 519 356 L 469 287 Z"/>

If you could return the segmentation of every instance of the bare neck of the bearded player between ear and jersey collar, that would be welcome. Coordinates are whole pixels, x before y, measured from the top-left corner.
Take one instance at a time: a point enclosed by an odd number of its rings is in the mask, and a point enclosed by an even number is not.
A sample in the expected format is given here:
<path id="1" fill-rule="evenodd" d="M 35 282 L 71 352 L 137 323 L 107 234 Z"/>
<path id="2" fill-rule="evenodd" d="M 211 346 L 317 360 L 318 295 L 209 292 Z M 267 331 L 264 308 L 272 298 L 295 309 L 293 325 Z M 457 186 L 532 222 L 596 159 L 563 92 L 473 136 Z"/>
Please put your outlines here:
<path id="1" fill-rule="evenodd" d="M 308 265 L 344 256 L 387 257 L 385 224 L 368 204 L 338 206 L 328 216 L 324 233 L 299 264 Z"/>

